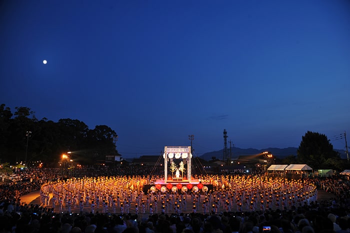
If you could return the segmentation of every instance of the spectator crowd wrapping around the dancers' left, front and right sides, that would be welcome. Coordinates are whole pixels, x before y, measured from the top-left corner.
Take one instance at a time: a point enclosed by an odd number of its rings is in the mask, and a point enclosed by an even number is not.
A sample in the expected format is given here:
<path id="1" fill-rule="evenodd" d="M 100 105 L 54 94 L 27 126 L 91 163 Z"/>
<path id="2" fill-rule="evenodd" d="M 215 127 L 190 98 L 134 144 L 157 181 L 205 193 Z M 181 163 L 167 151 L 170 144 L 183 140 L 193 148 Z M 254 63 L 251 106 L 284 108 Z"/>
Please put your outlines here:
<path id="1" fill-rule="evenodd" d="M 314 179 L 319 190 L 332 192 L 337 198 L 321 202 L 312 201 L 308 205 L 295 206 L 292 209 L 136 215 L 99 212 L 54 213 L 47 207 L 21 203 L 21 195 L 38 190 L 42 183 L 60 177 L 52 169 L 20 172 L 15 182 L 0 186 L 0 233 L 350 232 L 350 188 L 346 180 L 339 181 L 337 177 Z"/>

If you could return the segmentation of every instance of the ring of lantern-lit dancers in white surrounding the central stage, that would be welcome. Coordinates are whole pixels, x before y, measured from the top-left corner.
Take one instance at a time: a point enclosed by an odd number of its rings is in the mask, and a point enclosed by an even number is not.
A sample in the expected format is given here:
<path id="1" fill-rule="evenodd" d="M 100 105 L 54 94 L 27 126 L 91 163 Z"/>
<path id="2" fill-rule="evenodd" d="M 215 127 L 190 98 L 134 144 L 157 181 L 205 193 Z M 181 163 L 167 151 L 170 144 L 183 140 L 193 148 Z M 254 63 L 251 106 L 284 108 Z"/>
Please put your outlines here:
<path id="1" fill-rule="evenodd" d="M 152 177 L 159 178 L 159 177 Z M 143 191 L 148 176 L 100 176 L 70 178 L 41 186 L 43 205 L 55 212 L 111 213 L 218 213 L 291 209 L 309 205 L 317 199 L 311 179 L 288 180 L 264 175 L 205 175 L 203 183 L 212 189 Z"/>

